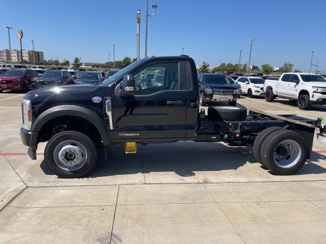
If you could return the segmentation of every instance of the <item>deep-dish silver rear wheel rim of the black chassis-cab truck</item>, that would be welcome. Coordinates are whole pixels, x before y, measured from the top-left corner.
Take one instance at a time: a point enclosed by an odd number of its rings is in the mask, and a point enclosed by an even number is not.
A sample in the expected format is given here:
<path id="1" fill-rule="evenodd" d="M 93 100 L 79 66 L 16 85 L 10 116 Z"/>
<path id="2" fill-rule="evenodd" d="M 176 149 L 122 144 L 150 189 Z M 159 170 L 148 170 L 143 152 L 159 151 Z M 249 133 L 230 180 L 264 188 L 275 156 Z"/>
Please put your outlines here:
<path id="1" fill-rule="evenodd" d="M 291 168 L 300 161 L 301 147 L 294 140 L 284 140 L 274 150 L 274 162 L 281 168 Z"/>

